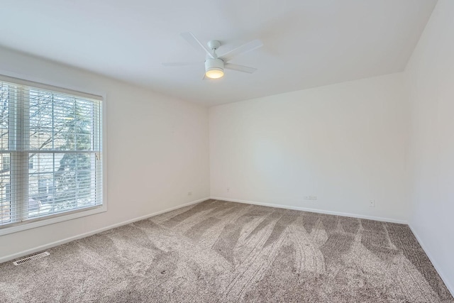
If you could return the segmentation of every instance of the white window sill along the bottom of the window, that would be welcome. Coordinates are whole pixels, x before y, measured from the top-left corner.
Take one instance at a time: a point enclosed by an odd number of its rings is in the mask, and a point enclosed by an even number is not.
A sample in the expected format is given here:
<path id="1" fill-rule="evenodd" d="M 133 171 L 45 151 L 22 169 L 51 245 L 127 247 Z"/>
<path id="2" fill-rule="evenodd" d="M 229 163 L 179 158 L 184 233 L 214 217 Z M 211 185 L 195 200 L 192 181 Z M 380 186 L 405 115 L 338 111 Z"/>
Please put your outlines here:
<path id="1" fill-rule="evenodd" d="M 104 211 L 107 211 L 106 204 L 92 206 L 87 209 L 78 209 L 75 211 L 68 211 L 62 214 L 56 214 L 55 216 L 50 216 L 50 218 L 48 219 L 40 219 L 38 221 L 26 221 L 20 224 L 13 224 L 11 226 L 3 226 L 0 227 L 0 236 L 7 235 L 9 233 L 17 233 L 18 231 L 25 231 L 31 228 L 37 228 L 40 226 L 55 224 L 58 222 L 77 219 L 83 216 L 91 216 L 92 214 L 99 214 Z"/>

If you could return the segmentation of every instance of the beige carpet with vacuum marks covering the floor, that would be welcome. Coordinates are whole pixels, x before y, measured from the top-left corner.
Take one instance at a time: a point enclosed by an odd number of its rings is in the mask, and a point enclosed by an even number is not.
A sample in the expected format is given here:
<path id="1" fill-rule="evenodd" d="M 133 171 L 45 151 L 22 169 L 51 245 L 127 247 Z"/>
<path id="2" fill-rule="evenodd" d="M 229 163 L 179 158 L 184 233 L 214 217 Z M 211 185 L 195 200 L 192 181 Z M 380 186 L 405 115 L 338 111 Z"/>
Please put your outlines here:
<path id="1" fill-rule="evenodd" d="M 0 265 L 0 302 L 454 302 L 408 226 L 209 200 Z"/>

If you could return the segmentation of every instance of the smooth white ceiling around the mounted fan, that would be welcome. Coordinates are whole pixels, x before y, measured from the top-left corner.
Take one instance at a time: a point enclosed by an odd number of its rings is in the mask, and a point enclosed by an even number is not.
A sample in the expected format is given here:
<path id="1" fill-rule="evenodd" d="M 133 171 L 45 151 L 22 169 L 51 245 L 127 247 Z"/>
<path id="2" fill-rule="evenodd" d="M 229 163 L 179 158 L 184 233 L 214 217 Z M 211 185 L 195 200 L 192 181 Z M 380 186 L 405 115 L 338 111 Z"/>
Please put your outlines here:
<path id="1" fill-rule="evenodd" d="M 404 70 L 436 0 L 2 0 L 0 45 L 209 106 Z M 202 43 L 264 46 L 202 81 Z M 163 67 L 162 62 L 199 66 Z"/>

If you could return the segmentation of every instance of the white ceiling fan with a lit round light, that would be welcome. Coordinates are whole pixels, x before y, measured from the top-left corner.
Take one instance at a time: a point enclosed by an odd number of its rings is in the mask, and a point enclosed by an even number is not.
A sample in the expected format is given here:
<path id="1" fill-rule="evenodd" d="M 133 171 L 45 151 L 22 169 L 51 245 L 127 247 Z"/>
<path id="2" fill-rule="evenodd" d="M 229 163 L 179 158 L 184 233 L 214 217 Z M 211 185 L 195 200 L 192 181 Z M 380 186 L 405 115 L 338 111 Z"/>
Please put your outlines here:
<path id="1" fill-rule="evenodd" d="M 216 50 L 221 46 L 221 43 L 218 40 L 210 40 L 207 45 L 208 48 L 203 45 L 199 39 L 193 33 L 182 33 L 182 38 L 187 40 L 187 42 L 192 45 L 194 48 L 198 50 L 204 50 L 206 53 L 205 59 L 205 75 L 204 78 L 207 77 L 209 79 L 218 79 L 223 77 L 224 70 L 236 70 L 238 72 L 248 72 L 252 74 L 257 69 L 253 67 L 248 67 L 244 65 L 237 65 L 233 63 L 229 63 L 228 61 L 232 60 L 233 57 L 237 55 L 250 52 L 251 50 L 255 50 L 257 48 L 262 47 L 262 41 L 256 39 L 252 40 L 249 43 L 243 44 L 238 48 L 235 48 L 223 55 L 218 56 L 216 54 Z M 170 62 L 170 63 L 162 63 L 164 66 L 184 66 L 184 65 L 201 65 L 201 62 Z"/>

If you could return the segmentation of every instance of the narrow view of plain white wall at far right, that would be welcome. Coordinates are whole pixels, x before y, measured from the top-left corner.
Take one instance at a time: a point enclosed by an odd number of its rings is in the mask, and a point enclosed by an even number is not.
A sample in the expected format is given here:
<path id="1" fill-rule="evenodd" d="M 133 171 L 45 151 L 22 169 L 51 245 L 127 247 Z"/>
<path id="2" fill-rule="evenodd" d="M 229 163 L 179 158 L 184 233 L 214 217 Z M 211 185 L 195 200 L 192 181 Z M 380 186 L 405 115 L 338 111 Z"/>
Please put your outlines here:
<path id="1" fill-rule="evenodd" d="M 454 1 L 439 0 L 405 71 L 409 224 L 454 293 Z"/>

